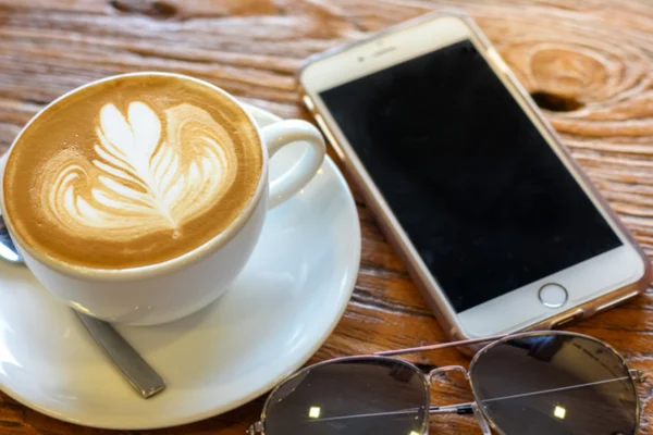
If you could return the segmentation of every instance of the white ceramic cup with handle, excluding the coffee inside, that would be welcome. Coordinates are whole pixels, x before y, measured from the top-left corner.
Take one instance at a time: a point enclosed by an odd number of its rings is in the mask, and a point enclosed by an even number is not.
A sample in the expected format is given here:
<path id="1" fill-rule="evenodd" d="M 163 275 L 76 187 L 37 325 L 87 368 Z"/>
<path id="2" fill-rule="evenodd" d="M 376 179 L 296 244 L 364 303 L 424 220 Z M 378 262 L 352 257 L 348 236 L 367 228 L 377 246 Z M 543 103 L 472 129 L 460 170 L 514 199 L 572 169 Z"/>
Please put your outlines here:
<path id="1" fill-rule="evenodd" d="M 224 90 L 183 75 L 136 73 L 107 77 L 72 90 L 36 114 L 19 134 L 8 156 L 25 129 L 49 107 L 88 86 L 131 75 L 192 79 L 238 104 Z M 72 308 L 109 322 L 152 325 L 181 319 L 208 306 L 229 289 L 244 268 L 259 238 L 268 210 L 299 191 L 324 159 L 324 140 L 311 124 L 291 120 L 259 128 L 251 115 L 249 121 L 256 127 L 260 142 L 264 144 L 262 172 L 256 192 L 244 212 L 205 245 L 163 263 L 140 268 L 94 270 L 67 266 L 27 246 L 17 236 L 12 229 L 12 220 L 16 216 L 7 213 L 1 198 L 3 189 L 0 189 L 3 219 L 25 263 L 46 288 Z M 307 145 L 303 158 L 284 174 L 270 181 L 269 159 L 281 148 L 296 141 Z M 0 161 L 0 175 L 4 172 L 5 162 L 7 156 Z"/>

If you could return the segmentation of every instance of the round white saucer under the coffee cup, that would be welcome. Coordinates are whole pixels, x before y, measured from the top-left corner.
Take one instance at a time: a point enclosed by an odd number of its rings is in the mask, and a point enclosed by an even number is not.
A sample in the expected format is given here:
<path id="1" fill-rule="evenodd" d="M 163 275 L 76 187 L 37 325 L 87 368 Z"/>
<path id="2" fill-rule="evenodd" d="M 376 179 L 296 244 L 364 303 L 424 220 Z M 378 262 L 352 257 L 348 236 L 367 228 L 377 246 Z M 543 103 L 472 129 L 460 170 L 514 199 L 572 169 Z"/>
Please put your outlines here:
<path id="1" fill-rule="evenodd" d="M 279 121 L 250 110 L 261 125 Z M 282 152 L 272 174 L 300 151 Z M 354 199 L 326 158 L 301 194 L 268 214 L 225 296 L 178 322 L 118 327 L 168 381 L 149 400 L 26 268 L 0 262 L 0 388 L 45 414 L 97 427 L 164 427 L 220 414 L 264 394 L 318 350 L 347 306 L 359 259 Z"/>

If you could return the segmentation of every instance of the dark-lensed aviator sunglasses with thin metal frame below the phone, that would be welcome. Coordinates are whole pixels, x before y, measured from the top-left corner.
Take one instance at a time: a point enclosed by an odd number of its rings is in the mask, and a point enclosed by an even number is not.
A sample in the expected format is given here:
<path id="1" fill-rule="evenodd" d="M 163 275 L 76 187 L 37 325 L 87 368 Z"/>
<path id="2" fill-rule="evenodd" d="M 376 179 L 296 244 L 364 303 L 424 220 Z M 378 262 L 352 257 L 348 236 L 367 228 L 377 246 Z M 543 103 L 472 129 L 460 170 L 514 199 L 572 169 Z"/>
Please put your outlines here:
<path id="1" fill-rule="evenodd" d="M 491 343 L 490 343 L 491 341 Z M 392 356 L 490 343 L 459 365 L 422 372 Z M 459 371 L 475 401 L 431 406 L 431 382 Z M 484 435 L 632 435 L 642 372 L 596 338 L 532 332 L 454 341 L 310 365 L 278 385 L 248 434 L 426 435 L 431 414 L 475 415 Z"/>

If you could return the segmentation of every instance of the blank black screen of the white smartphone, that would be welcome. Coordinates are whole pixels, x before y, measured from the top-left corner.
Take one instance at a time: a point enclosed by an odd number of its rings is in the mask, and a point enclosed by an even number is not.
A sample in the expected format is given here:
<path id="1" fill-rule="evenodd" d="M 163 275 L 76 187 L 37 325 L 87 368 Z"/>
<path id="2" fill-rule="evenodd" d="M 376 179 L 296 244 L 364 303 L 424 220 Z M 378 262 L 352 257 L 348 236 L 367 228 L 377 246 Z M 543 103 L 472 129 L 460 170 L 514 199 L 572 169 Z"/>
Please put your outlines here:
<path id="1" fill-rule="evenodd" d="M 470 40 L 320 97 L 457 312 L 621 246 Z"/>

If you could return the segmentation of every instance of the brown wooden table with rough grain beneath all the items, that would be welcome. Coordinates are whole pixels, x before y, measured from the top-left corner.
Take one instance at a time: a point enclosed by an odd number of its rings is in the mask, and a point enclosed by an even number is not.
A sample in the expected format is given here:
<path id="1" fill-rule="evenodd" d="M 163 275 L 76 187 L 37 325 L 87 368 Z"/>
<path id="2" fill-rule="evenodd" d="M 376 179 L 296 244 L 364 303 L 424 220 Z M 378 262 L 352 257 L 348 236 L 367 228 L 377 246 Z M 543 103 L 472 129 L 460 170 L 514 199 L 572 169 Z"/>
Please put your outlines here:
<path id="1" fill-rule="evenodd" d="M 59 95 L 144 70 L 190 74 L 279 115 L 307 119 L 294 78 L 303 59 L 443 7 L 460 8 L 478 21 L 653 254 L 650 0 L 0 0 L 0 152 Z M 356 291 L 312 361 L 445 339 L 357 198 L 364 244 Z M 653 374 L 650 293 L 572 328 L 606 339 L 633 368 Z M 430 358 L 438 364 L 467 362 L 455 350 Z M 470 399 L 460 378 L 441 380 L 432 390 L 435 403 Z M 652 433 L 653 383 L 641 395 L 642 433 Z M 259 399 L 211 420 L 138 434 L 242 435 L 261 405 Z M 473 419 L 456 415 L 435 418 L 431 431 L 480 434 Z M 108 432 L 59 422 L 0 394 L 2 434 Z"/>

